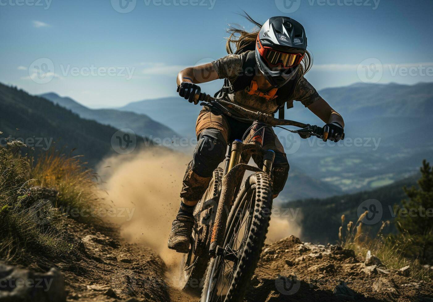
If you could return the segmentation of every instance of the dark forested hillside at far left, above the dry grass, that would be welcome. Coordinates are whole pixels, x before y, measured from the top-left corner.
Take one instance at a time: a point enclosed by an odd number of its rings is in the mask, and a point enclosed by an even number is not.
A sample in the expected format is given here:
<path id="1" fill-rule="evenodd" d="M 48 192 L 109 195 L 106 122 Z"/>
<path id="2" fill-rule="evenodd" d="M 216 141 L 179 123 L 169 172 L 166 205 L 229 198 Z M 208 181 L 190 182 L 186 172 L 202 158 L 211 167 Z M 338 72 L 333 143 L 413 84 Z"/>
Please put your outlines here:
<path id="1" fill-rule="evenodd" d="M 116 128 L 80 118 L 45 98 L 1 83 L 0 112 L 1 137 L 24 142 L 36 138 L 33 144 L 41 145 L 35 146 L 36 152 L 46 148 L 46 142 L 54 141 L 57 146 L 65 146 L 65 151 L 76 148 L 73 154 L 84 155 L 90 165 L 114 153 L 110 141 Z M 2 139 L 1 143 L 6 141 Z"/>

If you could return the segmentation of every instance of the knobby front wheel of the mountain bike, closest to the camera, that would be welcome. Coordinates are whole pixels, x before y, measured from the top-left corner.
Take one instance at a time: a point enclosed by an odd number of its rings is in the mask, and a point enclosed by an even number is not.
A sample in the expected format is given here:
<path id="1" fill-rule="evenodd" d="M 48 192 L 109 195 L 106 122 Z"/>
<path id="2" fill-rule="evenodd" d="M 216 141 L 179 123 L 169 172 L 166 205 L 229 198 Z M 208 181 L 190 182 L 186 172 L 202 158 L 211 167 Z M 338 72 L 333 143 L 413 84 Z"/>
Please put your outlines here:
<path id="1" fill-rule="evenodd" d="M 242 301 L 265 243 L 271 207 L 269 176 L 250 175 L 227 219 L 224 245 L 209 263 L 201 302 Z"/>

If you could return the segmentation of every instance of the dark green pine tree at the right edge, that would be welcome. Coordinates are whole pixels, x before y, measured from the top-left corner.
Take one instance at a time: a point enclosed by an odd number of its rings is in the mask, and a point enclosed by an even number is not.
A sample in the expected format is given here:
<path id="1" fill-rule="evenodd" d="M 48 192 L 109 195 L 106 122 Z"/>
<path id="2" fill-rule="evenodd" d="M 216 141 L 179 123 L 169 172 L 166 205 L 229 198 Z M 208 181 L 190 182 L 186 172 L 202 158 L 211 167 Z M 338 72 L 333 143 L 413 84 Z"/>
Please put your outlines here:
<path id="1" fill-rule="evenodd" d="M 396 217 L 397 238 L 408 238 L 404 254 L 419 258 L 423 263 L 433 261 L 433 168 L 425 159 L 420 168 L 421 178 L 417 187 L 404 188 L 408 199 Z"/>

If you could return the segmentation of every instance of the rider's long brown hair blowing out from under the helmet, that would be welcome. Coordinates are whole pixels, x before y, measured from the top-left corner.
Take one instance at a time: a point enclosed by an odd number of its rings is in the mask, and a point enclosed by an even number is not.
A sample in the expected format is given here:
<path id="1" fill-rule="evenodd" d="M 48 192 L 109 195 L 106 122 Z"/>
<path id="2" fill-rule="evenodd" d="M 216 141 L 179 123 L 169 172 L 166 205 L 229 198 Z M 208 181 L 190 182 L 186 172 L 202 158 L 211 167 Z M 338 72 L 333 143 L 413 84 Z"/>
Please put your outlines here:
<path id="1" fill-rule="evenodd" d="M 251 16 L 249 16 L 249 14 L 246 12 L 244 13 L 245 15 L 241 16 L 245 17 L 245 19 L 255 26 L 251 32 L 248 32 L 238 24 L 235 24 L 235 26 L 229 25 L 229 29 L 227 29 L 229 37 L 226 38 L 226 51 L 228 54 L 242 54 L 243 52 L 252 51 L 255 49 L 255 41 L 257 40 L 257 35 L 259 35 L 260 29 L 263 25 L 252 19 Z M 307 73 L 313 66 L 313 55 L 310 53 L 310 51 L 305 51 L 301 65 L 303 67 L 304 74 Z"/>

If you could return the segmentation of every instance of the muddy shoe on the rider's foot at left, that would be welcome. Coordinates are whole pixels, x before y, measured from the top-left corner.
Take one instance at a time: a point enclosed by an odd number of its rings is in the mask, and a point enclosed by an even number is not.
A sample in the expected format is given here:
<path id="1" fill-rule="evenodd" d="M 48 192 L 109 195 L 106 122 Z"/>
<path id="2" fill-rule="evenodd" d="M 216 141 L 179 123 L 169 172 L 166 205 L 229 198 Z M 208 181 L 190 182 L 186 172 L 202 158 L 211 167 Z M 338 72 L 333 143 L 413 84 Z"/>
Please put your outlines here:
<path id="1" fill-rule="evenodd" d="M 168 248 L 176 250 L 178 253 L 187 253 L 193 226 L 194 218 L 176 217 L 171 224 L 170 235 L 168 235 Z"/>

